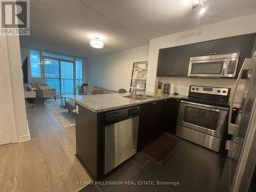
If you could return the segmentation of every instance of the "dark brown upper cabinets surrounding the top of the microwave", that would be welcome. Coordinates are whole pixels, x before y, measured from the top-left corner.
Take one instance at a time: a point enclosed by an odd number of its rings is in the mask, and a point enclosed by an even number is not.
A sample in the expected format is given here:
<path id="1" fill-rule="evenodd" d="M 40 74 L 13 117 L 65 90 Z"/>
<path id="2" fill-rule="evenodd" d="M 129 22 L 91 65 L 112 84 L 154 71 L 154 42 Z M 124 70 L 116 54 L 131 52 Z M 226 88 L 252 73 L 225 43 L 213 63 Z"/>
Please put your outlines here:
<path id="1" fill-rule="evenodd" d="M 187 76 L 190 57 L 240 53 L 237 74 L 244 59 L 251 57 L 255 34 L 234 36 L 159 50 L 157 76 Z"/>

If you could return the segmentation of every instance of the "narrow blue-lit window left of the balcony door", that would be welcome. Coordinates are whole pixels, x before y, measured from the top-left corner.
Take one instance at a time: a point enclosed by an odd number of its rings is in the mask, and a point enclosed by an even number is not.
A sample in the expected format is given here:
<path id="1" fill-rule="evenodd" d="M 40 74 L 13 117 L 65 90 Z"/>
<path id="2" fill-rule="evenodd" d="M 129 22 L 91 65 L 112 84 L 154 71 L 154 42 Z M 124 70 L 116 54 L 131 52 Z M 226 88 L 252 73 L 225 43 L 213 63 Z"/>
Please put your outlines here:
<path id="1" fill-rule="evenodd" d="M 31 77 L 41 77 L 41 65 L 39 51 L 30 50 Z"/>

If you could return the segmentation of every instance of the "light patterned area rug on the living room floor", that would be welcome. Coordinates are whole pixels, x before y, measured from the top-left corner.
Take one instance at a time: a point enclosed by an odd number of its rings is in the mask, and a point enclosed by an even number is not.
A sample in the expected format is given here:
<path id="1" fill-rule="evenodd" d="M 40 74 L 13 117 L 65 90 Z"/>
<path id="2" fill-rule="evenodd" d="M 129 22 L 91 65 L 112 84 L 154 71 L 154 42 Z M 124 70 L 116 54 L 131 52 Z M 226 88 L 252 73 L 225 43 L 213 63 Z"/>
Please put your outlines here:
<path id="1" fill-rule="evenodd" d="M 44 104 L 63 127 L 67 128 L 75 125 L 75 115 L 72 113 L 69 119 L 69 110 L 61 106 L 60 102 L 45 101 Z"/>

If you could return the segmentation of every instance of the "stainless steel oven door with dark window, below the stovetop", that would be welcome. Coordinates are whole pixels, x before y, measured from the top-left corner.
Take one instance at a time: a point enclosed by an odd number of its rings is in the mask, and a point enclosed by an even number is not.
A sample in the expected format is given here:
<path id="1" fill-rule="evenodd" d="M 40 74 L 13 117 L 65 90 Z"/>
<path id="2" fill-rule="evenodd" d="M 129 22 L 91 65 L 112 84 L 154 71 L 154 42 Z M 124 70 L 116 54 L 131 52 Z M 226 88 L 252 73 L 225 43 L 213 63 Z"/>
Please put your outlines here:
<path id="1" fill-rule="evenodd" d="M 178 124 L 222 138 L 227 108 L 181 101 Z"/>

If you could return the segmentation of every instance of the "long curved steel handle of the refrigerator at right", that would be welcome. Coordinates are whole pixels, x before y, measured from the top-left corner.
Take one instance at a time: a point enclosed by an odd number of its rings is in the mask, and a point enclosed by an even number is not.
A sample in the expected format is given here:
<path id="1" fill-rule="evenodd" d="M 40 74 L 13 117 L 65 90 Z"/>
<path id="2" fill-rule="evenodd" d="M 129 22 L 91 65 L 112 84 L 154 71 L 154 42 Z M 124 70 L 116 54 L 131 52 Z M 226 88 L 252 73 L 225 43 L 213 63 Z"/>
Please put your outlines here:
<path id="1" fill-rule="evenodd" d="M 246 62 L 249 62 L 249 61 L 250 61 L 249 58 L 246 58 L 244 60 L 243 66 L 241 67 L 241 70 L 239 72 L 236 84 L 234 86 L 233 94 L 230 97 L 230 106 L 229 106 L 229 114 L 228 114 L 228 134 L 230 134 L 230 135 L 235 135 L 235 136 L 238 135 L 239 125 L 231 123 L 232 111 L 233 111 L 233 103 L 234 103 L 234 97 L 236 96 L 238 85 L 239 85 L 239 82 L 241 80 L 241 77 L 242 77 L 243 70 L 245 68 Z"/>

